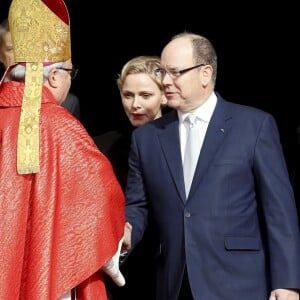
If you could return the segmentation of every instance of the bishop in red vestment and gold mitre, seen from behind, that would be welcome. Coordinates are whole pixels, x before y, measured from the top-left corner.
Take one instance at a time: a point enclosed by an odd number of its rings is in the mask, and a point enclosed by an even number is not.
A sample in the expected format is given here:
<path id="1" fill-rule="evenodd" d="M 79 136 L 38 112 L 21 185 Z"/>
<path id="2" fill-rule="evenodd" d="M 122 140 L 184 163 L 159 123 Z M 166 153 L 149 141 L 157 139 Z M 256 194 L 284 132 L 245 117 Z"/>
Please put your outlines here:
<path id="1" fill-rule="evenodd" d="M 109 161 L 58 104 L 72 68 L 66 7 L 13 0 L 9 22 L 16 65 L 0 84 L 0 299 L 57 300 L 71 290 L 106 299 L 125 199 Z"/>

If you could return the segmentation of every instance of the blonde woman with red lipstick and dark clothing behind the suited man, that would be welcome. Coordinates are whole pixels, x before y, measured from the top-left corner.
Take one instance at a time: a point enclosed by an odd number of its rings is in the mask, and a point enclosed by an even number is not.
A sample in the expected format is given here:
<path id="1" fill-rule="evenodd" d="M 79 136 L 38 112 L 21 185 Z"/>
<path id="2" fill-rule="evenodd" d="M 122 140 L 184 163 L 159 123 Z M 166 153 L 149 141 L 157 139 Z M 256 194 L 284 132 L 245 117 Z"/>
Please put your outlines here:
<path id="1" fill-rule="evenodd" d="M 122 67 L 117 86 L 129 124 L 94 137 L 98 148 L 111 161 L 124 189 L 132 130 L 161 117 L 166 106 L 161 77 L 157 73 L 159 68 L 160 58 L 157 56 L 137 56 Z M 126 278 L 124 287 L 120 288 L 108 282 L 111 299 L 154 299 L 156 247 L 153 239 L 150 229 L 121 266 Z"/>

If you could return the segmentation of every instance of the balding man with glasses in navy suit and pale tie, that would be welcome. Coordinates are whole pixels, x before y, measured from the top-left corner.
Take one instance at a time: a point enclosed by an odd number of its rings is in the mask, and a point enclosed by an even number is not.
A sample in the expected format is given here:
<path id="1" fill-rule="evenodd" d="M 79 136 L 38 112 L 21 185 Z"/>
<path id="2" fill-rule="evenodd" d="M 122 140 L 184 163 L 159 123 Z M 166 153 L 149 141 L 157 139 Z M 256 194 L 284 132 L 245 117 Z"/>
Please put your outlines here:
<path id="1" fill-rule="evenodd" d="M 123 247 L 141 239 L 151 212 L 156 299 L 298 300 L 298 219 L 274 118 L 214 92 L 217 55 L 203 36 L 175 36 L 157 72 L 174 111 L 133 132 Z M 200 145 L 188 192 L 191 114 Z"/>

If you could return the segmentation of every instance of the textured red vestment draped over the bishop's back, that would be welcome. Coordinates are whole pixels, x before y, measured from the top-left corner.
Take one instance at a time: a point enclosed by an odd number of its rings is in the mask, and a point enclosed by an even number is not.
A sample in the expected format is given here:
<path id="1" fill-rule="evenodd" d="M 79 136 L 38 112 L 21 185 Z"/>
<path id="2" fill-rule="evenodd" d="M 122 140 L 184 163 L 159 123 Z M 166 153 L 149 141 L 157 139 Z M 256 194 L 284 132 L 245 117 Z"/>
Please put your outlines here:
<path id="1" fill-rule="evenodd" d="M 106 299 L 100 270 L 124 229 L 124 194 L 109 161 L 43 89 L 40 173 L 19 175 L 23 84 L 0 86 L 0 299 Z"/>

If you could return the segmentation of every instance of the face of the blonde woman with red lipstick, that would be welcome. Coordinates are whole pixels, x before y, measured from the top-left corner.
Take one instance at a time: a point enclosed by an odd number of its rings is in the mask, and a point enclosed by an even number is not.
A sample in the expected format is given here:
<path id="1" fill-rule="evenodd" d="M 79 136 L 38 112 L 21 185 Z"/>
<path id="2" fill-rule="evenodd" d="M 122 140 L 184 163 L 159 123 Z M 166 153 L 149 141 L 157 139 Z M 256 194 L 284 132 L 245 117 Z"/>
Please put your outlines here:
<path id="1" fill-rule="evenodd" d="M 120 91 L 130 123 L 139 127 L 161 116 L 163 92 L 146 73 L 129 74 Z"/>

